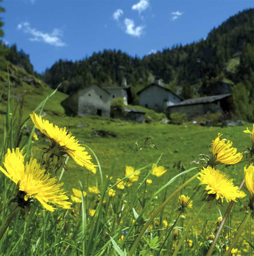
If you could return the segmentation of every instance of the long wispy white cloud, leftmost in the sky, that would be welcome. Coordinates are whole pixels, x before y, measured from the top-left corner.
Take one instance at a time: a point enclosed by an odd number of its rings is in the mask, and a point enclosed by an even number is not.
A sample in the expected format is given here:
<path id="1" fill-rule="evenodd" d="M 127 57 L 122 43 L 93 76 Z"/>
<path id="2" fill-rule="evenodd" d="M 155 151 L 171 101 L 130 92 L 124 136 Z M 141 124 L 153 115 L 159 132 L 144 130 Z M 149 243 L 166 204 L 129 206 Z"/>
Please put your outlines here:
<path id="1" fill-rule="evenodd" d="M 33 36 L 32 38 L 29 38 L 31 42 L 44 42 L 44 43 L 58 46 L 58 47 L 66 46 L 66 44 L 61 40 L 63 33 L 62 33 L 62 30 L 60 29 L 56 28 L 50 34 L 44 33 L 35 28 L 31 28 L 28 22 L 23 22 L 18 24 L 17 29 L 18 30 L 23 29 L 24 33 L 31 34 Z"/>

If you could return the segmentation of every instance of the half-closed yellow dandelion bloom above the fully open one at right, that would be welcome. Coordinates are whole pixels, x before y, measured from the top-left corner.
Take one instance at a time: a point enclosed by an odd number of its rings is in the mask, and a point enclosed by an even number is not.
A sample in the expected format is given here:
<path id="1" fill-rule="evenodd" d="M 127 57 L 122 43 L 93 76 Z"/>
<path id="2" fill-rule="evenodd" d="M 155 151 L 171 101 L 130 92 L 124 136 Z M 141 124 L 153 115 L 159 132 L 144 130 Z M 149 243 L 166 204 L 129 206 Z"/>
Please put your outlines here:
<path id="1" fill-rule="evenodd" d="M 226 139 L 220 140 L 222 134 L 218 133 L 218 137 L 212 143 L 212 159 L 208 162 L 209 165 L 215 166 L 216 164 L 236 164 L 243 158 L 243 153 L 236 153 L 236 148 L 232 146 L 231 141 Z"/>

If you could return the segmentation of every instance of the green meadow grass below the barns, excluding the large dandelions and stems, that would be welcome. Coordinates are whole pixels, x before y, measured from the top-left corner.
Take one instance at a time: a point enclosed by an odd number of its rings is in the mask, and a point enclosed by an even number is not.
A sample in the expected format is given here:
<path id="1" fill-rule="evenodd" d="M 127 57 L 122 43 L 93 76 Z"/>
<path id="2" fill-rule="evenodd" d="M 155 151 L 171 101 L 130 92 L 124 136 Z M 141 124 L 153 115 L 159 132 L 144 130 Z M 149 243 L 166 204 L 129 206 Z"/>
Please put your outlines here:
<path id="1" fill-rule="evenodd" d="M 12 91 L 13 94 L 11 95 L 14 98 L 10 101 L 11 111 L 15 109 L 17 104 L 15 97 L 24 89 L 26 86 L 14 88 Z M 46 86 L 42 90 L 28 89 L 29 91 L 24 96 L 22 120 L 29 117 L 39 102 L 53 92 Z M 3 95 L 7 95 L 6 91 Z M 237 152 L 246 151 L 245 145 L 250 147 L 250 139 L 246 133 L 243 133 L 243 130 L 246 130 L 246 126 L 250 129 L 251 123 L 221 128 L 204 127 L 190 122 L 173 125 L 154 120 L 150 123 L 139 124 L 133 121 L 99 116 L 69 117 L 64 114 L 64 109 L 60 105 L 60 102 L 66 97 L 67 95 L 60 92 L 52 95 L 44 105 L 43 118 L 59 127 L 66 127 L 79 139 L 81 144 L 91 148 L 98 158 L 101 171 L 98 170 L 96 174 L 93 174 L 85 167 L 80 167 L 72 159 L 69 159 L 67 162 L 68 170 L 63 171 L 61 182 L 64 182 L 65 190 L 69 191 L 67 193 L 69 198 L 73 188 L 87 192 L 87 195 L 82 197 L 83 202 L 74 204 L 72 211 L 57 209 L 52 213 L 32 205 L 26 221 L 19 220 L 18 216 L 14 217 L 4 235 L 3 239 L 5 240 L 0 242 L 1 255 L 125 255 L 124 250 L 128 255 L 139 231 L 144 227 L 144 223 L 155 209 L 180 185 L 198 173 L 198 169 L 186 172 L 154 196 L 156 191 L 180 173 L 176 166 L 177 163 L 181 161 L 184 167 L 182 171 L 196 167 L 190 162 L 203 158 L 199 154 L 210 156 L 209 146 L 218 133 L 223 133 L 222 138 L 231 140 L 233 147 L 237 148 Z M 6 131 L 7 104 L 7 101 L 3 100 L 0 106 L 0 144 L 4 142 L 6 136 L 4 131 Z M 38 113 L 39 111 L 37 111 Z M 29 120 L 24 127 L 21 145 L 31 135 L 32 128 L 33 123 Z M 31 155 L 40 159 L 41 148 L 47 144 L 44 136 L 38 133 L 38 140 L 32 139 L 27 157 Z M 96 164 L 95 156 L 89 148 L 86 147 L 89 155 L 92 155 L 92 162 Z M 152 164 L 156 163 L 158 159 L 157 165 L 165 167 L 167 172 L 160 177 L 151 174 L 147 177 L 152 169 Z M 2 162 L 3 159 L 1 159 L 1 166 L 3 166 Z M 233 178 L 236 186 L 239 186 L 243 179 L 243 167 L 246 164 L 247 162 L 238 163 L 223 169 Z M 123 190 L 116 189 L 114 186 L 116 179 L 125 177 L 126 166 L 132 166 L 134 170 L 147 167 L 141 170 L 138 181 L 133 182 L 132 186 L 125 187 Z M 222 169 L 223 166 L 218 165 L 216 168 Z M 58 172 L 61 173 L 61 170 Z M 0 175 L 2 181 L 0 191 L 1 218 L 5 219 L 8 216 L 8 210 L 5 209 L 7 203 L 5 198 L 14 193 L 15 186 L 3 173 Z M 112 180 L 107 179 L 106 175 L 112 176 Z M 146 178 L 151 179 L 152 184 L 146 184 Z M 204 186 L 199 189 L 198 194 L 193 190 L 198 186 L 198 183 L 198 179 L 189 183 L 166 205 L 141 239 L 134 255 L 173 254 L 183 228 L 203 205 L 200 198 Z M 6 185 L 10 185 L 7 190 L 5 189 Z M 99 195 L 89 192 L 88 187 L 92 186 L 101 190 L 100 200 L 98 200 Z M 110 197 L 108 195 L 107 189 L 110 186 L 114 186 L 115 196 Z M 243 190 L 248 197 L 247 190 Z M 192 197 L 192 208 L 178 211 L 178 196 L 180 194 Z M 240 199 L 234 204 L 226 223 L 228 227 L 225 227 L 223 238 L 217 245 L 214 255 L 224 255 L 226 245 L 229 243 L 227 239 L 231 241 L 235 234 L 234 230 L 237 230 L 246 215 L 243 211 L 246 198 Z M 149 201 L 150 199 L 151 201 Z M 103 202 L 104 200 L 105 202 Z M 150 205 L 145 208 L 148 202 Z M 38 205 L 38 202 L 36 204 Z M 211 239 L 209 240 L 207 237 L 213 233 L 218 217 L 223 216 L 227 206 L 226 201 L 223 202 L 222 206 L 213 203 L 211 209 L 208 209 L 207 204 L 207 207 L 204 208 L 192 226 L 188 239 L 185 240 L 178 255 L 205 255 L 211 242 Z M 89 215 L 89 209 L 96 209 L 94 216 Z M 166 226 L 163 224 L 165 220 L 168 223 Z M 171 228 L 169 223 L 174 223 L 174 220 L 177 222 Z M 251 220 L 242 233 L 244 238 L 241 237 L 234 246 L 234 248 L 239 249 L 239 255 L 253 253 L 252 247 L 248 244 L 249 242 L 253 245 L 253 227 L 253 220 Z M 115 242 L 112 242 L 110 237 Z"/>

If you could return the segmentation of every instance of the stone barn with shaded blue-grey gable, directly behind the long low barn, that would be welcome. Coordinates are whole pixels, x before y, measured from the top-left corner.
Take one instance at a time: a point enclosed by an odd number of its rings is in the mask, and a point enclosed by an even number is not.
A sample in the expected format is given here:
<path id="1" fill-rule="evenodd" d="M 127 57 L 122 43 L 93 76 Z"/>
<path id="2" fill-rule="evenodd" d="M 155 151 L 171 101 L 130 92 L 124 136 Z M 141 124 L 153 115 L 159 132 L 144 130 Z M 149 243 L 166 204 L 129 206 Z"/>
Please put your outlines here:
<path id="1" fill-rule="evenodd" d="M 162 85 L 151 83 L 137 93 L 139 105 L 158 112 L 163 112 L 168 106 L 177 104 L 183 99 Z"/>

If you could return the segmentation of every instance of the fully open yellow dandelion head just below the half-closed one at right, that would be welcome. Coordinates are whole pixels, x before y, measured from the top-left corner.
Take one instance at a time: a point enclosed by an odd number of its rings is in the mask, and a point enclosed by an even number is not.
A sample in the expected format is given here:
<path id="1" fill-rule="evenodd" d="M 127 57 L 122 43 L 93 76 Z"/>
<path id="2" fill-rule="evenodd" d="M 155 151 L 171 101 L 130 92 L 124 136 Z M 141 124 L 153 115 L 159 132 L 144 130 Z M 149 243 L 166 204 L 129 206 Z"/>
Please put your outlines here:
<path id="1" fill-rule="evenodd" d="M 233 179 L 229 179 L 225 173 L 220 170 L 215 170 L 214 168 L 207 166 L 203 167 L 203 170 L 199 173 L 200 180 L 199 185 L 205 184 L 207 194 L 212 194 L 216 196 L 216 200 L 219 198 L 223 202 L 223 198 L 226 201 L 236 201 L 236 198 L 239 198 L 240 191 L 237 186 L 234 186 Z"/>

